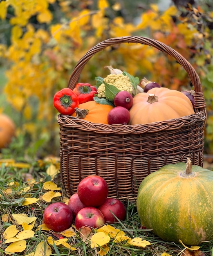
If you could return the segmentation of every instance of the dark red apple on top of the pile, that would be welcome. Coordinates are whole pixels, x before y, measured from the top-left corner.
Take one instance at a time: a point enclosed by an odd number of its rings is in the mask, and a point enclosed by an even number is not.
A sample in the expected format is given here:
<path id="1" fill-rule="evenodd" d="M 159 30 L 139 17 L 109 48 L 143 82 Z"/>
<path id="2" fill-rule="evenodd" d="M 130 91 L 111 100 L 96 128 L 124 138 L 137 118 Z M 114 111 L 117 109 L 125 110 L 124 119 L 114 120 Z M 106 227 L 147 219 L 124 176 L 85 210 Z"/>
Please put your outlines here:
<path id="1" fill-rule="evenodd" d="M 108 197 L 108 185 L 102 177 L 90 175 L 78 184 L 77 193 L 85 206 L 98 207 Z"/>

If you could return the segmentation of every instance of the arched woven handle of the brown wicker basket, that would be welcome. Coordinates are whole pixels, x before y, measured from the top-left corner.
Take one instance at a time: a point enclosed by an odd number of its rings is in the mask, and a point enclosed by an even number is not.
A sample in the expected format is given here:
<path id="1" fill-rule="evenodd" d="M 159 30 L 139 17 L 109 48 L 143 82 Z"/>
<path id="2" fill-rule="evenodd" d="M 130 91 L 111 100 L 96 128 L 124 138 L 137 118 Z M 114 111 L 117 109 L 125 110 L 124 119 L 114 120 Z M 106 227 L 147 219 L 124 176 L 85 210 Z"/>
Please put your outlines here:
<path id="1" fill-rule="evenodd" d="M 155 47 L 156 49 L 159 49 L 160 51 L 172 56 L 175 58 L 175 60 L 182 65 L 184 70 L 187 72 L 191 83 L 195 90 L 195 108 L 197 110 L 204 109 L 206 107 L 203 91 L 200 83 L 200 78 L 197 75 L 195 69 L 193 66 L 178 52 L 176 52 L 173 48 L 169 47 L 168 45 L 165 45 L 164 43 L 161 43 L 157 40 L 141 37 L 141 36 L 121 36 L 116 38 L 110 38 L 107 40 L 102 41 L 101 43 L 98 43 L 94 47 L 92 47 L 76 64 L 74 67 L 74 70 L 70 76 L 68 88 L 73 89 L 78 83 L 78 78 L 81 74 L 81 71 L 83 70 L 83 67 L 86 65 L 86 63 L 92 58 L 94 54 L 97 52 L 100 52 L 101 50 L 105 49 L 108 46 L 116 45 L 120 43 L 140 43 L 143 45 L 149 45 L 152 47 Z"/>

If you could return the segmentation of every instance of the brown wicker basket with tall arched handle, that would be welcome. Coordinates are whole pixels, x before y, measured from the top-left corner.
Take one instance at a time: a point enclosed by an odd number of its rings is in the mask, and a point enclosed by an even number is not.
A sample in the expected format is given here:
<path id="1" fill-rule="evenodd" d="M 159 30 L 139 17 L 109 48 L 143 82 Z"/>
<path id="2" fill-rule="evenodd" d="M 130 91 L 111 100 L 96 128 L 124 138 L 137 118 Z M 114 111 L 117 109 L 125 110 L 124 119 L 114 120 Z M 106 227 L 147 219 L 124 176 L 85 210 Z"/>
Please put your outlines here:
<path id="1" fill-rule="evenodd" d="M 94 124 L 58 115 L 60 126 L 61 177 L 68 196 L 76 193 L 87 175 L 100 175 L 109 186 L 109 197 L 134 201 L 144 177 L 165 164 L 186 162 L 202 166 L 205 100 L 200 79 L 185 58 L 156 40 L 123 36 L 92 47 L 74 68 L 68 87 L 73 89 L 90 58 L 108 46 L 140 43 L 173 56 L 184 67 L 195 90 L 195 114 L 179 119 L 139 125 Z"/>

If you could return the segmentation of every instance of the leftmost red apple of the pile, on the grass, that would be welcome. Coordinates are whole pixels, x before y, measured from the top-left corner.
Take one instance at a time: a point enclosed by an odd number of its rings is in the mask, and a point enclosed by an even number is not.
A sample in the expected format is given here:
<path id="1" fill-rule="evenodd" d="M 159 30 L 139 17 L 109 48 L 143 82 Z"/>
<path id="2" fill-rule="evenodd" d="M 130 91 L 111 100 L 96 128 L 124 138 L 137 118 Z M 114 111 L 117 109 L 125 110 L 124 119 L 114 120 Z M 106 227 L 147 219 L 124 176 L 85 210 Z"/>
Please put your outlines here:
<path id="1" fill-rule="evenodd" d="M 70 207 L 63 202 L 49 204 L 43 213 L 43 223 L 55 232 L 68 229 L 73 220 Z"/>

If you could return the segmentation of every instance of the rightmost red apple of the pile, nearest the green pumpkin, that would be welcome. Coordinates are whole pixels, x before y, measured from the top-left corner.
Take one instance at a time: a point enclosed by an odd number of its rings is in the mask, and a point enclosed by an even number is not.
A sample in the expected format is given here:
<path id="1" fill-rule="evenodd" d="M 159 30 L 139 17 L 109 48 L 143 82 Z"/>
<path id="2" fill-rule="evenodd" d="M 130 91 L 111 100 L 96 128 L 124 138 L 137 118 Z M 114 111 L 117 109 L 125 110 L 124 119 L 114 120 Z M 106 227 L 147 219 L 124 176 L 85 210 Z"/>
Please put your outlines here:
<path id="1" fill-rule="evenodd" d="M 106 223 L 117 222 L 117 219 L 113 216 L 112 212 L 119 220 L 125 220 L 126 218 L 125 206 L 120 200 L 115 198 L 107 198 L 98 209 L 103 213 Z"/>

